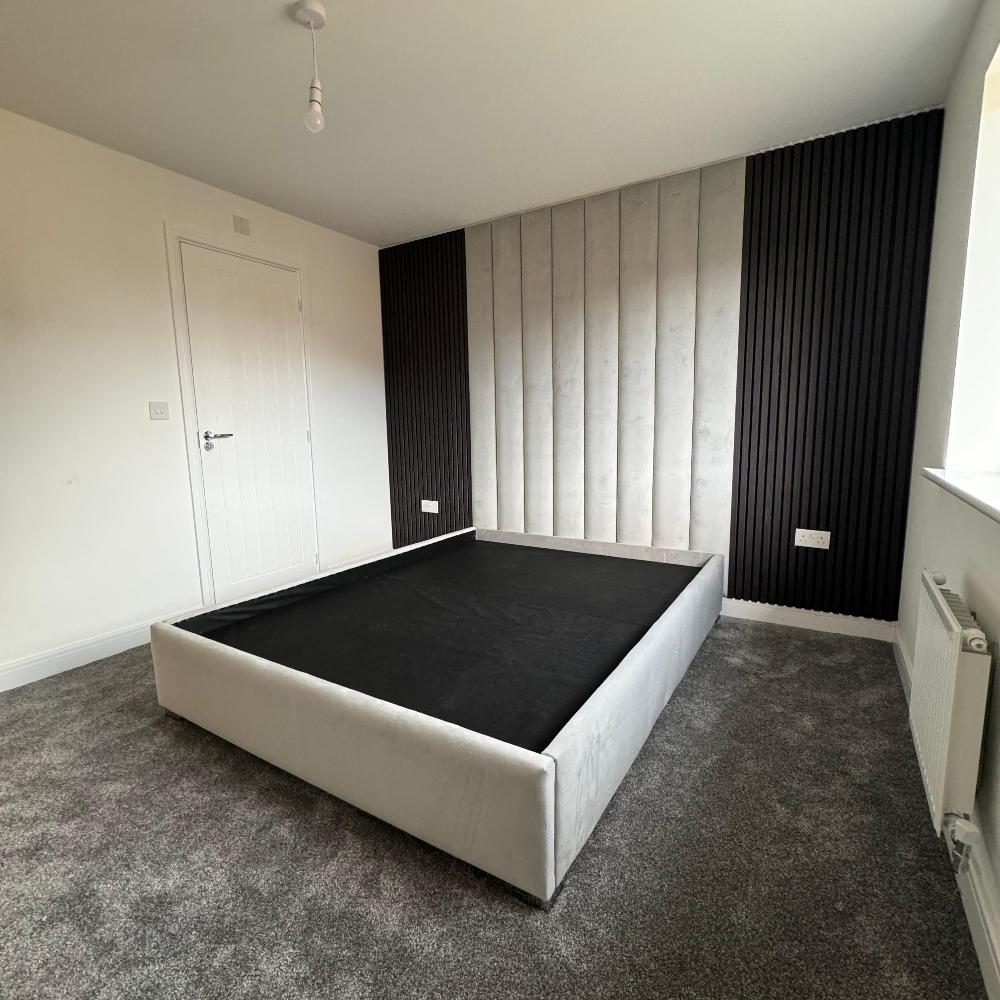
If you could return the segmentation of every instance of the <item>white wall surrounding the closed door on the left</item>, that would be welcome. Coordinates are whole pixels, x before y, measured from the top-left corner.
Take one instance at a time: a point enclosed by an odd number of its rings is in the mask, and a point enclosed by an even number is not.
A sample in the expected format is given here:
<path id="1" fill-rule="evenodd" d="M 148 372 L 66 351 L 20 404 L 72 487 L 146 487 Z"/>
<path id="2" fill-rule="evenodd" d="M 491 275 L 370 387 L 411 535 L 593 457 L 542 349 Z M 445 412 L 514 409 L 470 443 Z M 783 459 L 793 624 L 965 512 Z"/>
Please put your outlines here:
<path id="1" fill-rule="evenodd" d="M 320 561 L 389 548 L 376 248 L 3 111 L 0 150 L 0 672 L 200 602 L 165 221 L 304 264 Z"/>

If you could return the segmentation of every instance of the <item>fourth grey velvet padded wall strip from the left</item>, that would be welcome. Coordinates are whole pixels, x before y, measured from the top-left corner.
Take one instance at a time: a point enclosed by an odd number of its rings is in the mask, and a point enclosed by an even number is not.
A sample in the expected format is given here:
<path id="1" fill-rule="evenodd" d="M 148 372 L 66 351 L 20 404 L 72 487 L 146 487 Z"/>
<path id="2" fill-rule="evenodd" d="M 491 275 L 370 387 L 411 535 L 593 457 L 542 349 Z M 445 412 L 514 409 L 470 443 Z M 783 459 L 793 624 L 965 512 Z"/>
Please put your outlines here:
<path id="1" fill-rule="evenodd" d="M 552 209 L 553 533 L 567 538 L 583 538 L 583 216 L 582 201 Z"/>

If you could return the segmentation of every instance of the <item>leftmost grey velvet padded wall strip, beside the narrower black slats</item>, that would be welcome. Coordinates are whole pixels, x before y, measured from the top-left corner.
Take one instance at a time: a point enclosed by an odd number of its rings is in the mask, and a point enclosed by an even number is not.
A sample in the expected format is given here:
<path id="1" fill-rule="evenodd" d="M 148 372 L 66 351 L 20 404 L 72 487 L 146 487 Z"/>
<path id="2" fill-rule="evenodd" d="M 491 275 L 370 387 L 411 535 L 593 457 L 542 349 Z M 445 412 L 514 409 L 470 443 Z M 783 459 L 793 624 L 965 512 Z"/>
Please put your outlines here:
<path id="1" fill-rule="evenodd" d="M 469 318 L 469 426 L 472 439 L 472 520 L 497 526 L 496 376 L 493 366 L 493 228 L 465 231 Z"/>

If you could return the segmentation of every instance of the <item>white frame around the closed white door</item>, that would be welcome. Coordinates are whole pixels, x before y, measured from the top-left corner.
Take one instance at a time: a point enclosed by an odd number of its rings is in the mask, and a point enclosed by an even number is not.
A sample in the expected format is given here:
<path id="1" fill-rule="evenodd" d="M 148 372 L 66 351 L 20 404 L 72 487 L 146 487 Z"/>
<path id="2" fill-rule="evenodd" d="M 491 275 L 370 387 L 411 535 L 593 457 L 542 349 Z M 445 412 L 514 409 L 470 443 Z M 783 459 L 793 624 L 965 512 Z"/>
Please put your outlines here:
<path id="1" fill-rule="evenodd" d="M 316 495 L 316 457 L 313 450 L 313 399 L 312 363 L 310 358 L 309 279 L 305 263 L 284 252 L 273 252 L 252 237 L 234 234 L 220 235 L 180 227 L 163 222 L 163 237 L 167 254 L 167 282 L 170 291 L 170 306 L 173 313 L 174 346 L 177 354 L 177 376 L 180 385 L 181 418 L 184 428 L 184 447 L 187 453 L 188 481 L 191 491 L 191 516 L 194 523 L 195 548 L 198 559 L 198 581 L 201 587 L 202 607 L 216 604 L 215 573 L 212 568 L 212 545 L 208 530 L 208 502 L 205 493 L 204 469 L 202 466 L 201 440 L 199 438 L 198 405 L 194 382 L 194 360 L 191 352 L 191 331 L 187 315 L 187 295 L 184 288 L 184 266 L 181 259 L 181 244 L 191 243 L 214 250 L 218 253 L 242 257 L 258 264 L 280 267 L 294 272 L 299 279 L 299 296 L 302 300 L 300 312 L 302 326 L 302 356 L 306 377 L 306 419 L 308 422 L 309 471 L 312 477 L 312 512 L 316 531 L 316 565 L 309 579 L 320 572 L 322 551 L 319 535 L 319 510 Z M 245 600 L 246 598 L 241 598 Z"/>

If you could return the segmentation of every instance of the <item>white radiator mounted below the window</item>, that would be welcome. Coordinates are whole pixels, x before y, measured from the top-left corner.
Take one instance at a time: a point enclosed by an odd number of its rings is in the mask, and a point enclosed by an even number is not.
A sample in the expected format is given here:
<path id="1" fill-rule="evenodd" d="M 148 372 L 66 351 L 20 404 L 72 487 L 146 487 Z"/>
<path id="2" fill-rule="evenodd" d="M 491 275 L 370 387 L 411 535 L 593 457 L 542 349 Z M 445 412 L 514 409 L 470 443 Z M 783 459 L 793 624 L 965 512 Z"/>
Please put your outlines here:
<path id="1" fill-rule="evenodd" d="M 991 659 L 975 617 L 946 582 L 924 570 L 910 691 L 910 728 L 938 834 L 946 816 L 972 813 Z"/>

